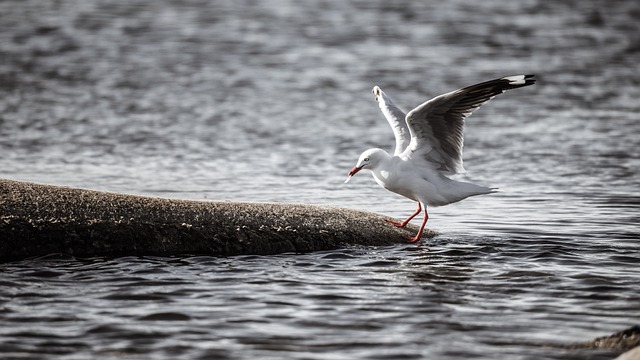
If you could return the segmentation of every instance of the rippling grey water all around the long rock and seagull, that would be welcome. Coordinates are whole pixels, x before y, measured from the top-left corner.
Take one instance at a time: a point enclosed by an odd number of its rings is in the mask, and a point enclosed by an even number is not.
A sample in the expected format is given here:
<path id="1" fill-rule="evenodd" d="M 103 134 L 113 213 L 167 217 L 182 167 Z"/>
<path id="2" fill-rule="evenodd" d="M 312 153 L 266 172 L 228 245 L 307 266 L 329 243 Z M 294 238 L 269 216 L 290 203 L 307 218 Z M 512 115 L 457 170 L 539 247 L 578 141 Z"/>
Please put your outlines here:
<path id="1" fill-rule="evenodd" d="M 0 2 L 0 176 L 404 217 L 367 176 L 405 110 L 535 73 L 467 122 L 470 181 L 431 246 L 0 265 L 4 357 L 590 358 L 637 324 L 640 7 Z M 541 345 L 546 346 L 541 346 Z"/>

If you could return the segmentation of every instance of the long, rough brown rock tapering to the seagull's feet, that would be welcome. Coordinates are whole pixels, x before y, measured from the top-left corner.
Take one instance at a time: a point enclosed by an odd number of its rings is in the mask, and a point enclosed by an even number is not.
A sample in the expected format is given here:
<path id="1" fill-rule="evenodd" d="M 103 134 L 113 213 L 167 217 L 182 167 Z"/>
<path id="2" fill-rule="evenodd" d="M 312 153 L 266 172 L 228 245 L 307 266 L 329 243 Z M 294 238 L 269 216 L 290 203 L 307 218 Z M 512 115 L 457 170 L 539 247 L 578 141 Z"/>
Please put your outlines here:
<path id="1" fill-rule="evenodd" d="M 417 231 L 385 219 L 334 207 L 164 199 L 0 179 L 0 261 L 51 253 L 310 252 L 345 244 L 391 245 Z"/>

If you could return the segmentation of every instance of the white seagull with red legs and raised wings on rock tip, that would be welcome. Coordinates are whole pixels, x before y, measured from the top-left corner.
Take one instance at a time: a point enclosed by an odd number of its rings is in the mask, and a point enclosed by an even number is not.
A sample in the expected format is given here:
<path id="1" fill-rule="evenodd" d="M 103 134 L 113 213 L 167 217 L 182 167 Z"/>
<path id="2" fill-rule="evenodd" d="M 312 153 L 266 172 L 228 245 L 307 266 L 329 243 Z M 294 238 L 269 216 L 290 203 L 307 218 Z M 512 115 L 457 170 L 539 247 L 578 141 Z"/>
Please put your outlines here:
<path id="1" fill-rule="evenodd" d="M 496 191 L 495 188 L 449 178 L 450 175 L 464 172 L 464 119 L 496 95 L 533 85 L 535 81 L 534 75 L 514 75 L 485 81 L 436 96 L 406 115 L 380 87 L 375 86 L 373 94 L 393 129 L 396 147 L 393 155 L 378 148 L 363 152 L 356 166 L 349 171 L 345 183 L 359 171 L 367 170 L 383 188 L 416 201 L 417 210 L 406 220 L 387 220 L 398 227 L 406 226 L 424 207 L 420 230 L 416 236 L 409 238 L 409 242 L 417 242 L 429 219 L 427 206 L 448 205 L 469 196 Z"/>

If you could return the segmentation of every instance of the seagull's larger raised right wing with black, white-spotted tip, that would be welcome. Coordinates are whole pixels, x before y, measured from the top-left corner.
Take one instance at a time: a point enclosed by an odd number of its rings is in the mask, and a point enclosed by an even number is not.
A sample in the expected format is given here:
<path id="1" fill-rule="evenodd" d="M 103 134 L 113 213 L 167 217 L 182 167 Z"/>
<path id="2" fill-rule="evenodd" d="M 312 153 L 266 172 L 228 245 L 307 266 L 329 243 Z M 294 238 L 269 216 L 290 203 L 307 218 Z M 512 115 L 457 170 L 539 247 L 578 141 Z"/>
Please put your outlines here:
<path id="1" fill-rule="evenodd" d="M 534 75 L 507 76 L 442 94 L 421 104 L 406 116 L 411 142 L 402 156 L 426 160 L 445 174 L 464 171 L 464 119 L 496 95 L 534 83 Z"/>

